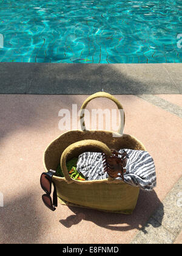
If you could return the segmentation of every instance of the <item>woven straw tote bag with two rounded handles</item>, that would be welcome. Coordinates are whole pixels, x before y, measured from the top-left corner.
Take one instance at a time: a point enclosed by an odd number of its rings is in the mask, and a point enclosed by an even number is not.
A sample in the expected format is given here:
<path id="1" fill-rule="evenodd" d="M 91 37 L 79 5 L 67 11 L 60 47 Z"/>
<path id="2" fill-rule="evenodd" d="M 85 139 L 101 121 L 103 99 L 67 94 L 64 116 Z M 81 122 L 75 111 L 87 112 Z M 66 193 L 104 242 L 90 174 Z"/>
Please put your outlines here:
<path id="1" fill-rule="evenodd" d="M 131 135 L 111 132 L 109 130 L 86 130 L 84 124 L 84 109 L 94 98 L 108 98 L 116 103 L 118 109 L 123 107 L 109 93 L 99 92 L 92 94 L 84 101 L 81 110 L 81 129 L 63 133 L 49 144 L 44 152 L 44 169 L 56 169 L 60 159 L 64 177 L 53 176 L 58 198 L 61 204 L 76 205 L 79 207 L 94 208 L 104 212 L 131 214 L 136 206 L 140 189 L 132 187 L 123 180 L 111 178 L 104 180 L 73 180 L 70 178 L 66 161 L 79 154 L 92 151 L 104 152 L 111 155 L 110 149 L 135 149 L 145 151 L 144 145 Z M 82 122 L 83 121 L 83 122 Z"/>

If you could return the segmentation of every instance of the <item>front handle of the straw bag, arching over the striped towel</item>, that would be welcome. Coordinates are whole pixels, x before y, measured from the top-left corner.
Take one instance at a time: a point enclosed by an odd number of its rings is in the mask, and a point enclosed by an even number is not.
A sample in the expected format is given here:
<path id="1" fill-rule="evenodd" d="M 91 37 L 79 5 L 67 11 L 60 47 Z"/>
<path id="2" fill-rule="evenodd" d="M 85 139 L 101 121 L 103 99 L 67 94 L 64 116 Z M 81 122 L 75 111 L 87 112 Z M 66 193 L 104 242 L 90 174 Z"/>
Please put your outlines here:
<path id="1" fill-rule="evenodd" d="M 93 148 L 99 149 L 101 152 L 104 152 L 108 157 L 110 157 L 110 155 L 112 155 L 112 152 L 106 146 L 106 144 L 104 144 L 103 142 L 98 141 L 98 140 L 81 140 L 81 141 L 75 142 L 73 144 L 70 144 L 70 146 L 68 146 L 62 152 L 60 163 L 61 163 L 62 172 L 63 172 L 66 180 L 72 180 L 71 177 L 69 176 L 69 173 L 68 173 L 67 167 L 66 167 L 67 157 L 74 151 L 77 152 L 77 154 L 78 154 L 78 152 L 81 154 L 85 151 L 93 150 Z"/>

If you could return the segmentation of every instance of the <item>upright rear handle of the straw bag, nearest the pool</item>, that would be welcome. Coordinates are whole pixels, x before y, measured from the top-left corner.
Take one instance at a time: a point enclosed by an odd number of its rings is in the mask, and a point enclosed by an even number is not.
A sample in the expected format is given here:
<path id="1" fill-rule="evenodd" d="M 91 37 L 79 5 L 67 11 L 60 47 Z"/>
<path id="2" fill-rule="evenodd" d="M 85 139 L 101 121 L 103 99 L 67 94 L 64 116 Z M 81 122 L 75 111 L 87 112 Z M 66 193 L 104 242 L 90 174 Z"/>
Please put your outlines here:
<path id="1" fill-rule="evenodd" d="M 95 98 L 107 98 L 107 99 L 110 99 L 111 101 L 115 102 L 115 104 L 117 105 L 118 107 L 118 110 L 120 109 L 123 109 L 123 106 L 121 105 L 121 103 L 118 101 L 118 99 L 116 99 L 114 96 L 112 96 L 111 94 L 109 93 L 105 93 L 104 91 L 99 91 L 98 93 L 94 93 L 92 95 L 90 95 L 84 102 L 83 102 L 83 105 L 81 106 L 81 116 L 80 116 L 80 124 L 81 124 L 81 130 L 83 131 L 86 131 L 86 125 L 85 125 L 85 122 L 84 122 L 84 110 L 85 108 L 87 107 L 87 104 L 92 101 L 92 99 L 95 99 Z M 123 110 L 124 112 L 124 110 Z M 122 119 L 123 119 L 123 127 L 121 126 L 121 123 L 120 123 L 120 127 L 119 127 L 119 130 L 118 130 L 118 133 L 120 133 L 122 135 L 123 133 L 123 128 L 124 128 L 124 123 L 125 123 L 125 115 L 124 115 L 124 118 L 123 118 L 123 115 L 122 113 L 120 112 L 120 116 L 121 116 L 121 122 L 122 122 Z M 83 120 L 83 122 L 82 122 Z"/>

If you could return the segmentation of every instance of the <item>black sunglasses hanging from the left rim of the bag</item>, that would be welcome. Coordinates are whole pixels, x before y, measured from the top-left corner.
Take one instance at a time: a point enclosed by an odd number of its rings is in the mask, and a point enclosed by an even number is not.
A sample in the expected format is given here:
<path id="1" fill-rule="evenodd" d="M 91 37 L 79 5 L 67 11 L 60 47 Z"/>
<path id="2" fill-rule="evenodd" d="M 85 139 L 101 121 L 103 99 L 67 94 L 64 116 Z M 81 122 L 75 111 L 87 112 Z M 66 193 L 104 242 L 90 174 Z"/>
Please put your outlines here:
<path id="1" fill-rule="evenodd" d="M 58 206 L 56 186 L 55 186 L 55 183 L 52 181 L 52 176 L 53 174 L 55 174 L 55 172 L 56 171 L 53 171 L 51 169 L 48 172 L 42 172 L 41 179 L 40 179 L 41 188 L 46 193 L 42 195 L 42 201 L 52 211 L 55 211 L 56 207 Z M 52 190 L 52 183 L 54 186 L 53 202 L 52 202 L 52 198 L 50 197 L 51 190 Z"/>

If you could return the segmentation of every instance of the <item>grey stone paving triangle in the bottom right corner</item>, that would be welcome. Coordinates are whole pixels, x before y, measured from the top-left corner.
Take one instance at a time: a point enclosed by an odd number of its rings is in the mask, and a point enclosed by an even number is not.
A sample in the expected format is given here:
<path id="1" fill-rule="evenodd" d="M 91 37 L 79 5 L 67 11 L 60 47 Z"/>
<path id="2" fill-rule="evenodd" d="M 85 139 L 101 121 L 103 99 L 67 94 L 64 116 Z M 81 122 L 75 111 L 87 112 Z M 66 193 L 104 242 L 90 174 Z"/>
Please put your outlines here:
<path id="1" fill-rule="evenodd" d="M 167 194 L 163 203 L 133 238 L 133 244 L 178 244 L 181 240 L 182 177 Z M 181 198 L 180 198 L 181 197 Z M 161 218 L 162 217 L 162 218 Z"/>

